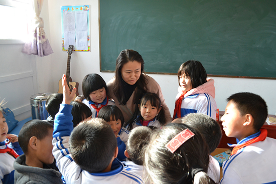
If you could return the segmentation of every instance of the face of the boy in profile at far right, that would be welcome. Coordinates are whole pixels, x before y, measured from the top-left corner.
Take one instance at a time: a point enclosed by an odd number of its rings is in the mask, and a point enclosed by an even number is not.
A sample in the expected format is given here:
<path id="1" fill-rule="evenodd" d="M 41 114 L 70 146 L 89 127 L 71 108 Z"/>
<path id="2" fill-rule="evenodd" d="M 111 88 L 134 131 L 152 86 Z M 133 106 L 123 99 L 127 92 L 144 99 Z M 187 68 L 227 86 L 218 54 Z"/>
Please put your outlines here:
<path id="1" fill-rule="evenodd" d="M 227 103 L 221 121 L 227 137 L 235 137 L 238 140 L 245 138 L 243 136 L 243 123 L 246 121 L 245 115 L 240 116 L 240 112 L 232 100 Z"/>

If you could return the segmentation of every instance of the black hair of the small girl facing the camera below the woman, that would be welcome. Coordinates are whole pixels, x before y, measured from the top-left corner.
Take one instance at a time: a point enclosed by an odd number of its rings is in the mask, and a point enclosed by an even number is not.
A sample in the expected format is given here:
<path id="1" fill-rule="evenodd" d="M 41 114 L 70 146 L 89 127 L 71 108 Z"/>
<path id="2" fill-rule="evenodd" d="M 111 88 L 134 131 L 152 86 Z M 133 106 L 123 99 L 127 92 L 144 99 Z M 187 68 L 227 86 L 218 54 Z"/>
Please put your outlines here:
<path id="1" fill-rule="evenodd" d="M 150 92 L 144 94 L 139 102 L 140 107 L 145 105 L 148 101 L 150 101 L 151 105 L 156 107 L 157 109 L 161 108 L 156 119 L 160 122 L 161 125 L 164 125 L 165 124 L 165 111 L 161 105 L 161 100 L 160 100 L 159 96 L 156 93 L 150 93 Z M 140 115 L 140 117 L 141 117 L 141 112 L 140 112 L 139 106 L 136 105 L 135 112 L 134 112 L 133 116 L 125 123 L 124 127 L 127 127 L 128 130 L 131 130 L 133 127 L 133 124 L 135 123 L 134 121 L 136 120 L 138 115 Z M 140 121 L 140 119 L 137 119 L 137 120 Z"/>

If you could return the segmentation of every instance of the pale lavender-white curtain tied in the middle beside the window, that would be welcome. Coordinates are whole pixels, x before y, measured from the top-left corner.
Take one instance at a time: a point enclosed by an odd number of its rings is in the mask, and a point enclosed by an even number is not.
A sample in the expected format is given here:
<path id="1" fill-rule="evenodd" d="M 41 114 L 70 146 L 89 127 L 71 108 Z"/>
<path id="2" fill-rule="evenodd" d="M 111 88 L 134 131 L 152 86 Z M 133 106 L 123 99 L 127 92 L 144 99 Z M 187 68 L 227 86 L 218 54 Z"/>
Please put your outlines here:
<path id="1" fill-rule="evenodd" d="M 26 54 L 34 54 L 40 57 L 48 56 L 53 53 L 49 40 L 44 31 L 44 22 L 40 16 L 43 5 L 43 0 L 31 0 L 33 6 L 34 20 L 32 26 L 34 27 L 32 37 L 25 43 L 22 52 Z"/>

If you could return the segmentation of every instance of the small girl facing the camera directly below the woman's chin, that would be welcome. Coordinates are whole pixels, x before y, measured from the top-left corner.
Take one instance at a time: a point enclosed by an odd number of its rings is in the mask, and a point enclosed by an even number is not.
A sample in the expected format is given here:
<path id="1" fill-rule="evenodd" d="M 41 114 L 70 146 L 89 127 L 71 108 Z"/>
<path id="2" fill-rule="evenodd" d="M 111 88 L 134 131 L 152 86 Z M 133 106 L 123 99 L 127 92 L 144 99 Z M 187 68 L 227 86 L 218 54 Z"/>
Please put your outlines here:
<path id="1" fill-rule="evenodd" d="M 165 113 L 161 106 L 161 100 L 155 93 L 146 93 L 138 104 L 138 109 L 132 118 L 126 123 L 128 130 L 137 126 L 160 128 L 165 124 Z"/>

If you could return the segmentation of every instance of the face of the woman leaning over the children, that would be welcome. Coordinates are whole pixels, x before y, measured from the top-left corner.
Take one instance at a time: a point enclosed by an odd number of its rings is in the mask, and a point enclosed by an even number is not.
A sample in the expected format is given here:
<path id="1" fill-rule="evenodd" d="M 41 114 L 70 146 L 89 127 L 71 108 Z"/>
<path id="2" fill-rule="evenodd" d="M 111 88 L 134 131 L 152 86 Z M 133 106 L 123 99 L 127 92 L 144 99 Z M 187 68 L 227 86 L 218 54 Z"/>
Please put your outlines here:
<path id="1" fill-rule="evenodd" d="M 121 69 L 121 75 L 124 82 L 133 85 L 141 75 L 141 63 L 137 61 L 128 61 Z"/>

